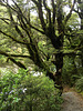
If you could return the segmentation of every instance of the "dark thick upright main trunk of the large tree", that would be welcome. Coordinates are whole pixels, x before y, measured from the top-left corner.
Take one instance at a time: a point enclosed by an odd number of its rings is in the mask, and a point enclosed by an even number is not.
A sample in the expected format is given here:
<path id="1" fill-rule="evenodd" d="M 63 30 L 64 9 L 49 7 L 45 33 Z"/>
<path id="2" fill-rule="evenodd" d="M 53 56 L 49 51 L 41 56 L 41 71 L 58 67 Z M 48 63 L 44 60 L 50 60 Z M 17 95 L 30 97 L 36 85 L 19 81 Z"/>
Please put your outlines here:
<path id="1" fill-rule="evenodd" d="M 50 30 L 51 32 L 51 30 Z M 63 87 L 62 87 L 62 68 L 63 68 L 63 53 L 61 52 L 61 50 L 63 49 L 63 34 L 60 36 L 60 38 L 56 39 L 56 37 L 53 34 L 49 34 L 51 38 L 51 42 L 53 44 L 53 47 L 55 48 L 56 53 L 54 53 L 54 62 L 53 64 L 56 68 L 56 72 L 52 75 L 51 74 L 51 79 L 55 82 L 55 88 L 60 89 L 60 93 L 62 93 L 63 91 Z"/>

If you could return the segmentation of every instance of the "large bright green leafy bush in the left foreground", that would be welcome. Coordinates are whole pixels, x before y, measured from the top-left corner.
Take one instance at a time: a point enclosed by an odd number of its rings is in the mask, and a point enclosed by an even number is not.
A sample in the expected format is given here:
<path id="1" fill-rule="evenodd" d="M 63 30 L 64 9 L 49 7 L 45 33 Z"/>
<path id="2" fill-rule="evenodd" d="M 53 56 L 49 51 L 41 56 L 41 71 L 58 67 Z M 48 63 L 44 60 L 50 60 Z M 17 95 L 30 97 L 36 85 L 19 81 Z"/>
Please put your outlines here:
<path id="1" fill-rule="evenodd" d="M 0 79 L 0 111 L 60 111 L 58 93 L 49 78 L 20 69 Z"/>

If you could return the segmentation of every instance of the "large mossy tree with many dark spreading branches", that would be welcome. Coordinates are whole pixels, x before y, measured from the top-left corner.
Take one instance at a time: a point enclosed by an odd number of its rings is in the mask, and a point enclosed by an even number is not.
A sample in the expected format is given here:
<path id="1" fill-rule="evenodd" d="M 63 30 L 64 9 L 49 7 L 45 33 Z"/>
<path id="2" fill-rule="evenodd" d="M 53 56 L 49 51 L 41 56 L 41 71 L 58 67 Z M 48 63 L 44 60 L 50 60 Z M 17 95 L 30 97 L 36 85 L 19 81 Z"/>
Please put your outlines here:
<path id="1" fill-rule="evenodd" d="M 2 23 L 11 28 L 9 31 L 0 29 L 1 36 L 3 34 L 8 40 L 23 46 L 29 51 L 29 54 L 14 54 L 0 50 L 0 54 L 8 57 L 13 63 L 20 68 L 27 69 L 27 67 L 14 59 L 14 57 L 29 58 L 40 69 L 46 71 L 46 75 L 52 79 L 58 88 L 62 90 L 62 67 L 63 57 L 65 54 L 76 54 L 75 51 L 64 52 L 64 38 L 65 36 L 72 37 L 70 29 L 66 27 L 69 19 L 71 18 L 72 11 L 76 0 L 71 3 L 70 12 L 65 16 L 63 8 L 68 4 L 68 0 L 0 0 L 0 6 L 7 9 L 6 13 L 8 17 L 0 17 Z M 21 2 L 20 2 L 21 1 Z M 50 3 L 50 4 L 49 4 Z M 69 4 L 70 6 L 70 4 Z M 31 13 L 37 11 L 38 22 L 33 23 Z M 12 31 L 11 31 L 12 30 Z M 14 33 L 13 33 L 14 32 Z M 34 33 L 38 37 L 34 38 Z M 39 36 L 40 34 L 40 36 Z M 54 52 L 49 54 L 40 50 L 39 41 L 40 38 L 44 37 L 45 40 L 51 41 Z M 48 39 L 46 39 L 48 38 Z M 12 43 L 12 42 L 11 42 Z M 46 41 L 45 41 L 46 44 Z M 45 48 L 43 46 L 43 48 Z M 51 48 L 51 47 L 50 47 Z M 53 57 L 53 60 L 51 58 Z M 56 72 L 50 70 L 50 63 L 56 68 Z"/>

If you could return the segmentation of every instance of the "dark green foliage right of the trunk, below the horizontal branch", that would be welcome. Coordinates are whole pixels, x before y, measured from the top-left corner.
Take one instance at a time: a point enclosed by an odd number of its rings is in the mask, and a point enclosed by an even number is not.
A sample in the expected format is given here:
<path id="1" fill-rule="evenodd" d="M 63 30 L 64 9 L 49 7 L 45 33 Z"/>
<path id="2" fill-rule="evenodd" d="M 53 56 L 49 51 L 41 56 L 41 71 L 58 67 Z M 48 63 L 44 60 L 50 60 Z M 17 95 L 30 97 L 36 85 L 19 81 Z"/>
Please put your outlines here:
<path id="1" fill-rule="evenodd" d="M 74 85 L 75 80 L 79 79 L 77 69 L 74 63 L 74 58 L 65 57 L 62 72 L 63 83 L 70 87 Z"/>

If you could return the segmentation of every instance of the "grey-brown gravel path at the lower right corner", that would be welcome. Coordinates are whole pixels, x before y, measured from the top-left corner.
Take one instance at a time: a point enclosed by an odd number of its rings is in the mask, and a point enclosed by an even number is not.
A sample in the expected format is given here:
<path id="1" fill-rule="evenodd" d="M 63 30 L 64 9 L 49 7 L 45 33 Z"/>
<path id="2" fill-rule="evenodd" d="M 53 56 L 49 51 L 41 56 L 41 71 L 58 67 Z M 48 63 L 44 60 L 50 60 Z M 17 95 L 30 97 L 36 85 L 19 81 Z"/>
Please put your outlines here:
<path id="1" fill-rule="evenodd" d="M 83 111 L 83 98 L 75 91 L 65 91 L 62 94 L 64 102 L 61 111 Z"/>

